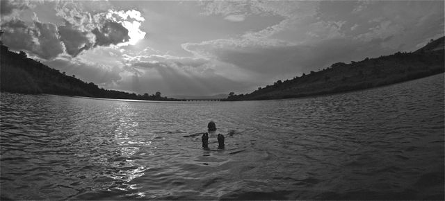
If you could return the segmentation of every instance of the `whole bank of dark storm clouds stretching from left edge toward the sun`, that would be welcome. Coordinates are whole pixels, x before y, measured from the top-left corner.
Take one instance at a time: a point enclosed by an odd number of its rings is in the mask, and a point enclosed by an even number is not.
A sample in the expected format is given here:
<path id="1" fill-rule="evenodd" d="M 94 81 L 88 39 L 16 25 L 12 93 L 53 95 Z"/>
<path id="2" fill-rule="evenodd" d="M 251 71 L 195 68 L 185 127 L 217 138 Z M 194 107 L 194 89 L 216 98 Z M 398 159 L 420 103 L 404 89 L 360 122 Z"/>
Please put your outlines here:
<path id="1" fill-rule="evenodd" d="M 81 51 L 92 46 L 109 46 L 129 41 L 129 31 L 115 21 L 105 21 L 92 31 L 81 31 L 65 21 L 65 25 L 33 21 L 26 24 L 19 19 L 12 19 L 1 24 L 3 42 L 13 50 L 24 50 L 38 55 L 40 58 L 52 59 L 64 52 L 76 57 Z M 90 35 L 90 37 L 88 37 Z"/>

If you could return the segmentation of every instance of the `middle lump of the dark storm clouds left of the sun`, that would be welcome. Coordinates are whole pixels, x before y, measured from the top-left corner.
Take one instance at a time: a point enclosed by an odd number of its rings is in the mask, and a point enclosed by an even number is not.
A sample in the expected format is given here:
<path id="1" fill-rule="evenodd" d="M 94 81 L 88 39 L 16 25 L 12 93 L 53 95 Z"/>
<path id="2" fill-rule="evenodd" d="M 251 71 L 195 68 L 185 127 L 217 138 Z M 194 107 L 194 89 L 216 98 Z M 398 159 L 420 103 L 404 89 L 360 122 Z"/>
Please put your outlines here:
<path id="1" fill-rule="evenodd" d="M 81 51 L 88 50 L 92 46 L 87 32 L 74 28 L 70 22 L 65 21 L 65 25 L 58 27 L 60 40 L 65 44 L 68 54 L 76 57 Z"/>

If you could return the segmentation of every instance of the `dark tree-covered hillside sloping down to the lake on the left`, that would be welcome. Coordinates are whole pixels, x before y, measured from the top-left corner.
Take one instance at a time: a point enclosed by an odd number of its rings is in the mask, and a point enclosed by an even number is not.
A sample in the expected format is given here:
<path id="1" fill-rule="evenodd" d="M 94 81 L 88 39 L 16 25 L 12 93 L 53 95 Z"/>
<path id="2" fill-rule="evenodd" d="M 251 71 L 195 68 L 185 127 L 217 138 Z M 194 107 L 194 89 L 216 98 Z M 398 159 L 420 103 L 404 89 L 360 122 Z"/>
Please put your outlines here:
<path id="1" fill-rule="evenodd" d="M 155 94 L 130 94 L 99 88 L 92 82 L 83 82 L 74 75 L 67 76 L 46 65 L 26 58 L 26 53 L 13 53 L 1 45 L 0 91 L 22 94 L 57 94 L 67 96 L 87 96 L 95 98 L 119 98 L 136 100 L 177 100 Z"/>

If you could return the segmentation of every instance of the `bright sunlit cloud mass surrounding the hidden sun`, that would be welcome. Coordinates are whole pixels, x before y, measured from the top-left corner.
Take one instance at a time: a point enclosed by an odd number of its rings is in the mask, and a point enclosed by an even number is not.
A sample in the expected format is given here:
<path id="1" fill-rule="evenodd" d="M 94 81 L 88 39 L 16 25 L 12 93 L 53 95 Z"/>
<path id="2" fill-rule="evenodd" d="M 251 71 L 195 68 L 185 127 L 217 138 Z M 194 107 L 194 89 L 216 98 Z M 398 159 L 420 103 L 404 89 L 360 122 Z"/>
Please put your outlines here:
<path id="1" fill-rule="evenodd" d="M 145 18 L 138 10 L 88 12 L 89 4 L 77 1 L 62 2 L 56 6 L 57 15 L 66 21 L 65 29 L 69 28 L 70 33 L 77 35 L 77 40 L 73 42 L 68 37 L 64 38 L 65 42 L 74 44 L 71 55 L 90 49 L 90 46 L 134 45 L 145 37 L 146 33 L 140 30 L 140 22 L 145 21 Z M 89 42 L 86 42 L 86 37 Z M 80 46 L 79 43 L 86 45 Z M 75 46 L 78 51 L 74 49 Z"/>

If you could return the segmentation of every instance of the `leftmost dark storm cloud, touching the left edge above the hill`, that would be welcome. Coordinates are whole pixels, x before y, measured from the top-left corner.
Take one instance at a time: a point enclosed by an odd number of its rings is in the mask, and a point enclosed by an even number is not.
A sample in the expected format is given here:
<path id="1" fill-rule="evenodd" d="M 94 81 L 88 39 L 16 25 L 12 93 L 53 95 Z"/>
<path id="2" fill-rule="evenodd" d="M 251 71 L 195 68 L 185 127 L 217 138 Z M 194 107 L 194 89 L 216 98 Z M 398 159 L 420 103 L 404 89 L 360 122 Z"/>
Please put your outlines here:
<path id="1" fill-rule="evenodd" d="M 2 24 L 1 28 L 5 32 L 2 41 L 10 49 L 29 51 L 44 59 L 63 53 L 55 24 L 34 21 L 27 26 L 24 21 L 13 19 Z"/>

